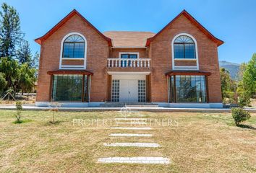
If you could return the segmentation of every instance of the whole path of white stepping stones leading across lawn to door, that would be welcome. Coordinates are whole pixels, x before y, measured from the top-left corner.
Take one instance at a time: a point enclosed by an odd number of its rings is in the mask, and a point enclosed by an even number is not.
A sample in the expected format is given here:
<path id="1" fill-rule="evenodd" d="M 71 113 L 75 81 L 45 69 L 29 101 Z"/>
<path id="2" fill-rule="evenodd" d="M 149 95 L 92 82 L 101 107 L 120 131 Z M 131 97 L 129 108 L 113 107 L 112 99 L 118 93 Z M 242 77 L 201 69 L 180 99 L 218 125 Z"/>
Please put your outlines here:
<path id="1" fill-rule="evenodd" d="M 129 111 L 129 108 L 123 107 L 120 111 L 121 115 L 116 117 L 114 120 L 130 120 L 130 122 L 116 122 L 116 125 L 146 125 L 146 118 L 142 115 L 142 112 Z M 123 118 L 121 118 L 123 117 Z M 132 122 L 133 120 L 133 122 Z M 134 122 L 136 120 L 136 122 Z M 111 127 L 113 130 L 152 130 L 150 127 Z M 109 136 L 113 137 L 151 137 L 152 134 L 143 134 L 143 133 L 111 133 Z M 103 146 L 113 146 L 113 147 L 160 147 L 158 143 L 103 143 Z M 99 158 L 98 163 L 119 163 L 119 164 L 170 164 L 170 159 L 163 157 L 106 157 Z"/>

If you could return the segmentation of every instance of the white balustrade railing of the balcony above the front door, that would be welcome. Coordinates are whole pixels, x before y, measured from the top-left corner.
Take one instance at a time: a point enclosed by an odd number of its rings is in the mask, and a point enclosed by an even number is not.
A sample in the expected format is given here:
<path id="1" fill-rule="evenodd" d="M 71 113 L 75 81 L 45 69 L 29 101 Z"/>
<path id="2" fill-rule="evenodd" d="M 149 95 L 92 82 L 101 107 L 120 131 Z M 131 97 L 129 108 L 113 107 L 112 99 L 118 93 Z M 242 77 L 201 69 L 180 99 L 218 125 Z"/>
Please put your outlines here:
<path id="1" fill-rule="evenodd" d="M 150 58 L 108 58 L 108 67 L 150 67 Z"/>

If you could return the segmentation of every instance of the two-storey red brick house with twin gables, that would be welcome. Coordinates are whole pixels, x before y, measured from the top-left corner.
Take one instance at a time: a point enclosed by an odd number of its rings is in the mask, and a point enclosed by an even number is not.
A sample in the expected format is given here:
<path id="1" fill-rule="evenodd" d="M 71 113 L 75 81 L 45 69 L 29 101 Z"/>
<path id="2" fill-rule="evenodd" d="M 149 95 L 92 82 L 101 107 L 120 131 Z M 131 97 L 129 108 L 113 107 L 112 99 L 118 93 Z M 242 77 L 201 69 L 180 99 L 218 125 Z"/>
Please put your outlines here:
<path id="1" fill-rule="evenodd" d="M 73 10 L 35 42 L 41 45 L 38 106 L 222 107 L 218 46 L 223 41 L 186 11 L 155 34 L 101 33 Z"/>

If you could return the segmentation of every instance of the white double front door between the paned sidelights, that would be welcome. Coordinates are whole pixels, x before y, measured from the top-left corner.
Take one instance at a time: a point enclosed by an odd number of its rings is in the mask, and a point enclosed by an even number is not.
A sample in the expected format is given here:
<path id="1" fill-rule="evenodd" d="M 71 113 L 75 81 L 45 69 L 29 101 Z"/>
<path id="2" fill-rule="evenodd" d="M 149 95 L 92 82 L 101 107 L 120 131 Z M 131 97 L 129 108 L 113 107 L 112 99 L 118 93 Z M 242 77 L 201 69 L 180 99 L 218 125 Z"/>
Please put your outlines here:
<path id="1" fill-rule="evenodd" d="M 120 80 L 119 102 L 138 102 L 138 80 Z"/>

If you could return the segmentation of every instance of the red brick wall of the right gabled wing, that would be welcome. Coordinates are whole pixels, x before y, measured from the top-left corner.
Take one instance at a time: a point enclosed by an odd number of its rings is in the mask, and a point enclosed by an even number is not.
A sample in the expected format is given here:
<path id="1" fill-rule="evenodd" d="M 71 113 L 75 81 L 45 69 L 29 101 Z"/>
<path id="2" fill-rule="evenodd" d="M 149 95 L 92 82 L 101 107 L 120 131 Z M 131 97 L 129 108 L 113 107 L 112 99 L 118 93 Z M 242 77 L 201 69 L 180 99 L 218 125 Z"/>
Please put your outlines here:
<path id="1" fill-rule="evenodd" d="M 183 15 L 166 27 L 150 44 L 152 101 L 168 102 L 165 73 L 171 71 L 171 41 L 179 33 L 187 33 L 197 40 L 199 69 L 212 73 L 208 76 L 209 102 L 222 102 L 217 45 Z"/>

